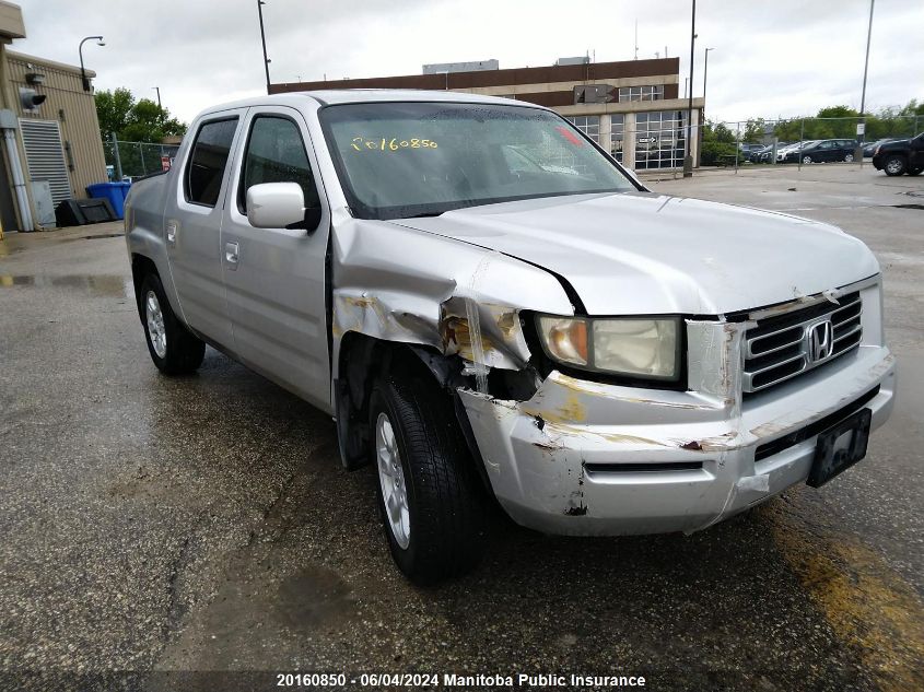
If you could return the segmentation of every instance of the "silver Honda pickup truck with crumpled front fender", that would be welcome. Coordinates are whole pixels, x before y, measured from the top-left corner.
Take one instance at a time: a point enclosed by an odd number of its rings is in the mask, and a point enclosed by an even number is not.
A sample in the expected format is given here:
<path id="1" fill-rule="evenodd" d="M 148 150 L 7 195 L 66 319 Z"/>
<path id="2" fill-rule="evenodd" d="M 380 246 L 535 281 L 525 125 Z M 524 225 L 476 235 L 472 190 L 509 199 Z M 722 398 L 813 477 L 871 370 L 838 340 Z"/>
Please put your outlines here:
<path id="1" fill-rule="evenodd" d="M 781 213 L 657 195 L 553 112 L 445 92 L 210 108 L 132 186 L 154 364 L 206 343 L 336 419 L 418 583 L 488 504 L 540 531 L 695 531 L 866 454 L 879 266 Z"/>

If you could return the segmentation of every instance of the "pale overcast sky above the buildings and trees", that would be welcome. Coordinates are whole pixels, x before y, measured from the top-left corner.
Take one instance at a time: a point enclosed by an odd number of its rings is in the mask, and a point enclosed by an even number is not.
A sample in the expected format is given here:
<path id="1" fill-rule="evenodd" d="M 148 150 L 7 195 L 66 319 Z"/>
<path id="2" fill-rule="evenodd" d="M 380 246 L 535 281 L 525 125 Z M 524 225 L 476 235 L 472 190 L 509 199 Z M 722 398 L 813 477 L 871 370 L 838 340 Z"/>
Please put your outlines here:
<path id="1" fill-rule="evenodd" d="M 14 50 L 78 64 L 83 36 L 97 90 L 127 86 L 183 120 L 265 90 L 256 0 L 22 0 Z M 694 95 L 706 117 L 737 120 L 859 107 L 869 0 L 700 0 Z M 496 58 L 502 68 L 681 56 L 689 73 L 689 0 L 267 0 L 273 82 L 417 74 L 429 62 Z M 924 0 L 879 0 L 867 107 L 924 99 Z"/>

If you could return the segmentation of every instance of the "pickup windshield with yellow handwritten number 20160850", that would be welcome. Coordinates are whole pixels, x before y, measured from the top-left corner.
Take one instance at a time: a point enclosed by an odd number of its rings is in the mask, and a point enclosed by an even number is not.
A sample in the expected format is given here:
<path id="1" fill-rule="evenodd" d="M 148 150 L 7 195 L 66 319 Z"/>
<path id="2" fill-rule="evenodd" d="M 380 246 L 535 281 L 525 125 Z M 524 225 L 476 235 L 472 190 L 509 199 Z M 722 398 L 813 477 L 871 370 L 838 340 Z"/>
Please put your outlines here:
<path id="1" fill-rule="evenodd" d="M 638 189 L 571 124 L 538 108 L 343 104 L 324 108 L 320 119 L 347 198 L 362 219 Z"/>

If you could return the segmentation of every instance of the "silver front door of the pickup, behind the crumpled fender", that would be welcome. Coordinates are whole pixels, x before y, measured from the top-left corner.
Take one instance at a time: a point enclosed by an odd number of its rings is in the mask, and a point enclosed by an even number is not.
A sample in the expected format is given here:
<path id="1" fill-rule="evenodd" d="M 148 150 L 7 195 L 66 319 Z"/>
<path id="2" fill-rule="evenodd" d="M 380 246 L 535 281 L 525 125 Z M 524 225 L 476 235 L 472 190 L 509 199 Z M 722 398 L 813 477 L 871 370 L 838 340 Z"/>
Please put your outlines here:
<path id="1" fill-rule="evenodd" d="M 325 260 L 329 210 L 301 113 L 254 108 L 234 164 L 222 225 L 223 275 L 235 352 L 253 370 L 321 409 L 330 408 Z M 297 183 L 306 208 L 321 208 L 306 228 L 256 228 L 247 188 Z M 317 216 L 315 216 L 317 219 Z"/>

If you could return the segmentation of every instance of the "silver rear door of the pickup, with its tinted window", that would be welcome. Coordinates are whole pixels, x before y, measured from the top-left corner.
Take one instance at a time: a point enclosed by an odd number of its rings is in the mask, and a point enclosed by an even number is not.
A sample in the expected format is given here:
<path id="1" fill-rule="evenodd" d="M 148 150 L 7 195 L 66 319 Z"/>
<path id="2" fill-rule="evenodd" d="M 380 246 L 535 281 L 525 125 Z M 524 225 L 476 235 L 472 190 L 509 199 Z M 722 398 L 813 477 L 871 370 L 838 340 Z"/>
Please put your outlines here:
<path id="1" fill-rule="evenodd" d="M 229 161 L 246 109 L 204 117 L 194 132 L 176 198 L 166 210 L 171 272 L 186 322 L 233 350 L 222 279 L 221 223 L 229 187 Z"/>

